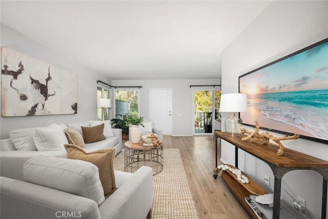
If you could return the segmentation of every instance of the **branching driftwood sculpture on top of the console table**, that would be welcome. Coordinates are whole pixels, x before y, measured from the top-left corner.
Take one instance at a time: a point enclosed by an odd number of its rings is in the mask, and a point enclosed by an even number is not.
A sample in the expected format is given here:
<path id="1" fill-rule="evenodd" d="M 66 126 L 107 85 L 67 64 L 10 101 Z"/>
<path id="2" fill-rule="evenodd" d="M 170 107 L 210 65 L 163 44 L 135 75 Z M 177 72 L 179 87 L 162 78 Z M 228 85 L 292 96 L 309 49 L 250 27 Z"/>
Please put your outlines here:
<path id="1" fill-rule="evenodd" d="M 258 123 L 258 121 L 255 121 L 255 127 L 256 130 L 254 132 L 251 132 L 245 128 L 241 128 L 241 134 L 249 134 L 247 137 L 242 137 L 241 140 L 242 141 L 246 141 L 246 140 L 250 140 L 250 142 L 260 142 L 263 144 L 270 144 L 270 139 L 275 142 L 276 144 L 271 144 L 273 146 L 278 146 L 278 152 L 277 155 L 280 156 L 283 154 L 283 145 L 280 143 L 280 141 L 282 140 L 292 140 L 292 139 L 297 139 L 299 137 L 299 134 L 294 134 L 292 136 L 288 136 L 285 135 L 283 137 L 275 137 L 271 134 L 269 134 L 269 132 L 263 132 L 263 133 L 259 133 L 260 130 L 260 125 Z"/>

